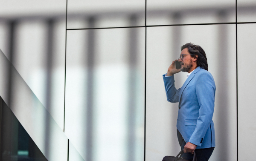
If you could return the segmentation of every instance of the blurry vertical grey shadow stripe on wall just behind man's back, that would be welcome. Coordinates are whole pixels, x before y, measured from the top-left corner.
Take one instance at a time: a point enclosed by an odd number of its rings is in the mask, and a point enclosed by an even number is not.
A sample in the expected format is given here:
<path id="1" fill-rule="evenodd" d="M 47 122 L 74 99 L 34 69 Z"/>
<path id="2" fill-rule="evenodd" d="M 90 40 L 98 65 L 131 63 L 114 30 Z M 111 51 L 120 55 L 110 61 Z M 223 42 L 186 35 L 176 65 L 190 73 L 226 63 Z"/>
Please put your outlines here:
<path id="1" fill-rule="evenodd" d="M 225 13 L 224 11 L 220 11 L 219 12 L 219 18 L 220 19 L 224 19 L 226 18 L 227 13 Z M 218 81 L 220 82 L 216 82 L 216 91 L 218 90 L 218 107 L 219 108 L 219 112 L 216 113 L 216 115 L 218 115 L 218 127 L 219 130 L 218 131 L 218 135 L 221 136 L 219 139 L 221 139 L 221 145 L 228 145 L 228 133 L 227 131 L 229 126 L 228 124 L 228 113 L 229 113 L 229 109 L 227 109 L 228 107 L 228 91 L 227 91 L 227 86 L 228 86 L 228 69 L 225 66 L 222 66 L 224 64 L 227 63 L 227 59 L 228 59 L 228 51 L 227 51 L 227 45 L 228 45 L 228 38 L 227 38 L 227 33 L 228 33 L 228 29 L 227 29 L 227 25 L 219 25 L 218 28 Z M 216 106 L 215 106 L 216 107 Z M 225 129 L 225 130 L 224 130 Z M 226 156 L 227 158 L 229 158 L 229 156 L 227 156 L 228 154 L 228 149 L 225 146 L 218 146 L 219 148 L 219 153 L 218 153 L 218 157 L 219 158 L 223 158 L 223 156 Z"/>

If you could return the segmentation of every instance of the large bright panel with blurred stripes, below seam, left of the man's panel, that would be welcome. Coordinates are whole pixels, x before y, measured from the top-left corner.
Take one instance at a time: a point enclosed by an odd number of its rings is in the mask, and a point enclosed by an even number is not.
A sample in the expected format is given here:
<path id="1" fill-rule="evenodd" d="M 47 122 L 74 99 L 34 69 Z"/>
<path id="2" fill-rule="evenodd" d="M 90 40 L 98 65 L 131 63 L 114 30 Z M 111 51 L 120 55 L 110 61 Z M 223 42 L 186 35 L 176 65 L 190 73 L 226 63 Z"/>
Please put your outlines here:
<path id="1" fill-rule="evenodd" d="M 86 161 L 144 158 L 145 28 L 67 31 L 65 134 Z"/>

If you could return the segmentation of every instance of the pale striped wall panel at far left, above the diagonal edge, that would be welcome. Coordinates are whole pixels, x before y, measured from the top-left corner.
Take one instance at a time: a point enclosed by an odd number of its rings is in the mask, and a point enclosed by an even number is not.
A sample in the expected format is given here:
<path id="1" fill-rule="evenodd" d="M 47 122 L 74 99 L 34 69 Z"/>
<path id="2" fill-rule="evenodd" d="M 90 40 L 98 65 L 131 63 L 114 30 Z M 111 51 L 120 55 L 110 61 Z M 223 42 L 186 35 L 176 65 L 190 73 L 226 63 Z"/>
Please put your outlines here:
<path id="1" fill-rule="evenodd" d="M 6 0 L 0 5 L 0 49 L 9 60 L 12 51 L 12 64 L 61 129 L 66 7 L 67 0 Z"/>

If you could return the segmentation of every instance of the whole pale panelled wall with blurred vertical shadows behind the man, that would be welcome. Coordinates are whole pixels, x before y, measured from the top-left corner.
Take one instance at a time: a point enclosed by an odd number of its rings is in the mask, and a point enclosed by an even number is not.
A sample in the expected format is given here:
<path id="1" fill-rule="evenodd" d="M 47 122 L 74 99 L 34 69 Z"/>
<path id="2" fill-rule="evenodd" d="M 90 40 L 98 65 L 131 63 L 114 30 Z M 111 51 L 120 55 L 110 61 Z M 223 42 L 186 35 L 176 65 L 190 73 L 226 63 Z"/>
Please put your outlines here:
<path id="1" fill-rule="evenodd" d="M 49 161 L 177 155 L 177 103 L 166 100 L 162 75 L 191 42 L 216 84 L 210 161 L 251 159 L 254 61 L 244 53 L 255 40 L 255 0 L 3 2 L 0 96 L 19 122 L 15 155 L 31 140 Z M 185 79 L 175 75 L 175 86 Z M 17 138 L 21 126 L 31 140 Z"/>

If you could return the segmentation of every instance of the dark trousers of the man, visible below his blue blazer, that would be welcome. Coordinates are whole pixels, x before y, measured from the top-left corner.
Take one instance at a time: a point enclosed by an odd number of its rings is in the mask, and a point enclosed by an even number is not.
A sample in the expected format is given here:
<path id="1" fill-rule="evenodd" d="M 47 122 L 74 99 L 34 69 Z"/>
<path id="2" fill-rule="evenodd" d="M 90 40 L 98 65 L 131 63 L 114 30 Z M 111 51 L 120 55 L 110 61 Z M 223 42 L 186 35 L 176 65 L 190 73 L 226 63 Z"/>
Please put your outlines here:
<path id="1" fill-rule="evenodd" d="M 179 140 L 181 150 L 183 150 L 184 146 L 186 145 L 186 142 L 182 138 L 178 129 L 177 129 L 177 136 L 178 136 L 178 140 Z M 196 154 L 197 161 L 208 161 L 210 156 L 212 155 L 213 150 L 214 150 L 214 147 L 204 148 L 204 149 L 195 149 L 195 154 Z M 181 157 L 183 159 L 188 160 L 188 161 L 193 161 L 193 154 L 192 153 L 189 153 L 189 152 L 184 153 Z"/>

